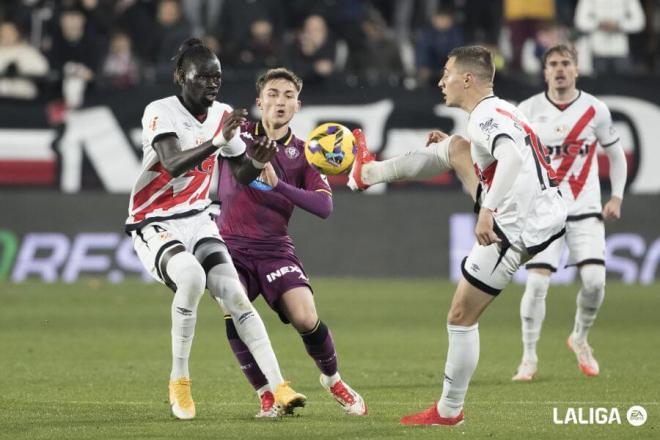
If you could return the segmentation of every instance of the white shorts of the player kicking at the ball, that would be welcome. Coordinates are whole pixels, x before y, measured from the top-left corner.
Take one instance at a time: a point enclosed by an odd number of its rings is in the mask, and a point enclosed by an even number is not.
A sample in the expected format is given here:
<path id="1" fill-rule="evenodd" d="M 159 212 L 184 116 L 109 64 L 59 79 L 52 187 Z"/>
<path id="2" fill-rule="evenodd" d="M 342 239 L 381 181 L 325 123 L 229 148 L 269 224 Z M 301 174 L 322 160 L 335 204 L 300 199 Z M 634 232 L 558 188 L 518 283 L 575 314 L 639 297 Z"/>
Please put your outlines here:
<path id="1" fill-rule="evenodd" d="M 556 241 L 556 240 L 555 240 Z M 468 283 L 491 295 L 498 295 L 513 278 L 518 268 L 529 259 L 522 245 L 511 245 L 502 252 L 500 243 L 481 246 L 475 243 L 461 264 Z"/>

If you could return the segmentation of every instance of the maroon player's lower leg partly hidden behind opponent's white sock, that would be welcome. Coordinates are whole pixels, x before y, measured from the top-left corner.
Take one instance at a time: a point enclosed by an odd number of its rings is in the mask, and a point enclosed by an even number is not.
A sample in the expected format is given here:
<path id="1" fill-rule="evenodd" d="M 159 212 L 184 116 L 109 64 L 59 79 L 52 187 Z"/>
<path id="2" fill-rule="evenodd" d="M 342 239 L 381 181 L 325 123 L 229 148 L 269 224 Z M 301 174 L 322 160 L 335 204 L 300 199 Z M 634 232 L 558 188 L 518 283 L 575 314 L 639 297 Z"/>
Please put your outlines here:
<path id="1" fill-rule="evenodd" d="M 259 369 L 259 365 L 257 365 L 254 356 L 252 356 L 250 350 L 238 336 L 234 321 L 231 319 L 231 315 L 228 314 L 225 315 L 225 329 L 227 331 L 229 346 L 241 366 L 241 371 L 247 378 L 248 382 L 250 382 L 250 385 L 252 385 L 252 388 L 254 388 L 257 397 L 259 398 L 261 408 L 255 417 L 277 417 L 278 414 L 275 406 L 273 390 L 270 388 L 266 376 L 264 376 Z"/>

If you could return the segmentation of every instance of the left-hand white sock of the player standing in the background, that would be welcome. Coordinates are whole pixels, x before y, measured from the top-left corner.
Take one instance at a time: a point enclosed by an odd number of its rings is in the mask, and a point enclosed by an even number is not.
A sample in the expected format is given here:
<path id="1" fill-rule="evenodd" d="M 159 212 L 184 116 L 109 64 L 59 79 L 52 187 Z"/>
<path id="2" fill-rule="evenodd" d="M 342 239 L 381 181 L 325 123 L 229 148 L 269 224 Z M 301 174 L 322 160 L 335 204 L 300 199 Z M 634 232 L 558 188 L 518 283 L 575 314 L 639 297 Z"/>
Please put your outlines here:
<path id="1" fill-rule="evenodd" d="M 536 343 L 541 336 L 545 318 L 545 297 L 548 294 L 550 277 L 536 272 L 527 272 L 525 293 L 520 301 L 522 322 L 523 360 L 537 362 Z"/>

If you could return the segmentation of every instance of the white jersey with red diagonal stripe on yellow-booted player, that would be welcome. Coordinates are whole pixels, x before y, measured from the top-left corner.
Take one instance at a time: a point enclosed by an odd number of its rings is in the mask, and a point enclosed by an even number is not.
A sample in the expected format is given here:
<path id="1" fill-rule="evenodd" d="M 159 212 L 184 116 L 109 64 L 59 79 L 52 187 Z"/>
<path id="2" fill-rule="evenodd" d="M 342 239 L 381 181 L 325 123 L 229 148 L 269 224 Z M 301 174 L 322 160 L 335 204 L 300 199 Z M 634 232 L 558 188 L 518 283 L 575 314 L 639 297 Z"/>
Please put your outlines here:
<path id="1" fill-rule="evenodd" d="M 244 145 L 242 150 L 230 146 L 219 148 L 195 168 L 172 177 L 152 144 L 160 137 L 174 134 L 182 150 L 197 147 L 219 132 L 231 111 L 229 105 L 214 102 L 204 122 L 200 122 L 176 96 L 147 105 L 142 116 L 142 172 L 131 192 L 127 230 L 150 221 L 192 215 L 210 205 L 209 188 L 217 155 L 238 156 L 245 151 Z"/>

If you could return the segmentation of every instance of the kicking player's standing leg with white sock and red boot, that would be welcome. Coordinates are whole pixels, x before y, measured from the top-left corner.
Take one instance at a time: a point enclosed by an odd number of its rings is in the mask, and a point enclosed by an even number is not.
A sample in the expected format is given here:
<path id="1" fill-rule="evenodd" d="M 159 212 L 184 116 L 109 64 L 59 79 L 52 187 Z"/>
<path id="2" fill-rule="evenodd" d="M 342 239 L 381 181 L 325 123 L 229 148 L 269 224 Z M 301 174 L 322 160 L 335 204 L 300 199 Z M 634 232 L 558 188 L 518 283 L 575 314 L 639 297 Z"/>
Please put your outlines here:
<path id="1" fill-rule="evenodd" d="M 430 408 L 401 418 L 401 424 L 453 426 L 463 423 L 465 395 L 479 361 L 477 320 L 494 298 L 461 278 L 447 318 L 449 347 L 442 397 Z"/>

